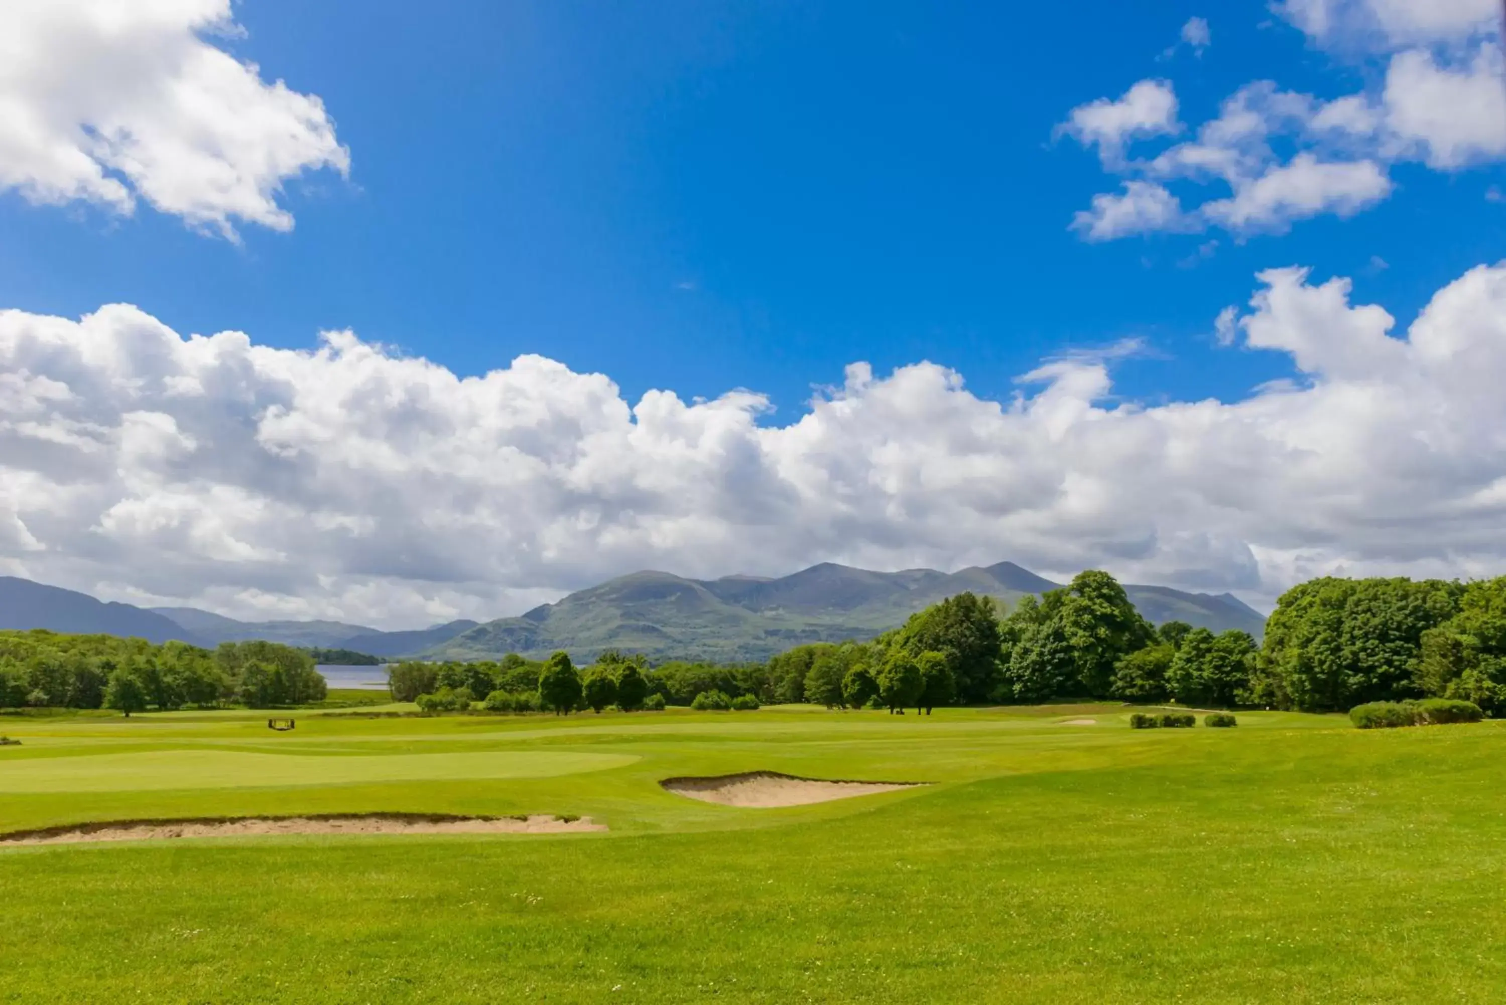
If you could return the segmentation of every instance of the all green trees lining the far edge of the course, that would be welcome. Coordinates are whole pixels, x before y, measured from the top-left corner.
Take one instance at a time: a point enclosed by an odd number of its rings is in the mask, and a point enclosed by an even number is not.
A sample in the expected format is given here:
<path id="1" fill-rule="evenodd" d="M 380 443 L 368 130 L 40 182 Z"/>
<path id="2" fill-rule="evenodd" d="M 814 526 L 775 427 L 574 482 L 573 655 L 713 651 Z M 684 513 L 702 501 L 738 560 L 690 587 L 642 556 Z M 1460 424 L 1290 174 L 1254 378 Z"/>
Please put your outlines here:
<path id="1" fill-rule="evenodd" d="M 866 642 L 810 643 L 767 663 L 712 664 L 604 652 L 389 666 L 395 701 L 431 710 L 556 711 L 810 702 L 831 708 L 1120 699 L 1343 711 L 1449 699 L 1506 707 L 1506 577 L 1471 583 L 1316 579 L 1283 594 L 1264 642 L 1185 622 L 1160 627 L 1113 576 L 1090 570 L 1003 610 L 959 594 Z M 322 701 L 307 651 L 271 642 L 202 649 L 111 636 L 0 631 L 0 707 L 139 711 Z"/>

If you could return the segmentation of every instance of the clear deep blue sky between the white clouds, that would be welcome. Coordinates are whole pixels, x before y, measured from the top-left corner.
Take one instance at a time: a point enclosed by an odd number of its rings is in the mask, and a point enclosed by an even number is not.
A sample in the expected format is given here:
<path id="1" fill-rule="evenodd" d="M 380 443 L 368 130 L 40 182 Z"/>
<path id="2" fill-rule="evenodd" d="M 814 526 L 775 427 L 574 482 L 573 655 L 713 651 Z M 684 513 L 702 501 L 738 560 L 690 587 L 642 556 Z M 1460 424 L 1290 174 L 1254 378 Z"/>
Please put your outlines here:
<path id="1" fill-rule="evenodd" d="M 1181 47 L 1212 15 L 1212 44 Z M 1351 276 L 1410 319 L 1498 255 L 1498 167 L 1395 170 L 1398 193 L 1285 235 L 1068 231 L 1110 188 L 1053 139 L 1140 78 L 1188 122 L 1271 78 L 1322 98 L 1375 66 L 1259 3 L 438 3 L 256 0 L 229 47 L 316 93 L 349 178 L 288 184 L 291 234 L 205 238 L 0 199 L 0 303 L 77 316 L 136 303 L 181 331 L 280 347 L 354 328 L 461 374 L 544 353 L 651 387 L 750 387 L 779 419 L 842 366 L 920 359 L 980 395 L 1069 347 L 1142 336 L 1119 393 L 1233 399 L 1291 371 L 1218 348 L 1261 268 Z M 1199 256 L 1199 247 L 1217 247 Z M 1379 268 L 1378 262 L 1386 262 Z"/>

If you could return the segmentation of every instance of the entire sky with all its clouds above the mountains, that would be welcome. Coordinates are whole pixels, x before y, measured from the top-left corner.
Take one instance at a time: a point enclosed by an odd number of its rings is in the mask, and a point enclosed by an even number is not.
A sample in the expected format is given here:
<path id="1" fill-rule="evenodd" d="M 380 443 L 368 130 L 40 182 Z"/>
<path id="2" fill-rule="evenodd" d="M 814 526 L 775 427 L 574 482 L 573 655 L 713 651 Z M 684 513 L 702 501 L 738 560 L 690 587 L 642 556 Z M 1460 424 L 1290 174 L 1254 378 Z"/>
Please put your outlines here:
<path id="1" fill-rule="evenodd" d="M 17 0 L 0 574 L 1506 573 L 1497 15 Z"/>

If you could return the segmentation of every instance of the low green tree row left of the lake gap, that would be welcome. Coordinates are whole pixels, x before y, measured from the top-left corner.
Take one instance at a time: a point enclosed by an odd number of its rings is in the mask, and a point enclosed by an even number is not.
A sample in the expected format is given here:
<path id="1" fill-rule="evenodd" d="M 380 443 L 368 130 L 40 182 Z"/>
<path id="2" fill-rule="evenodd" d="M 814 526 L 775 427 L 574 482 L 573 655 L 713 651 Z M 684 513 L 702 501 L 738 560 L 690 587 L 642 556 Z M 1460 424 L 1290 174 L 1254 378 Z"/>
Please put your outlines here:
<path id="1" fill-rule="evenodd" d="M 276 642 L 185 642 L 0 631 L 0 708 L 276 708 L 324 701 L 313 658 Z"/>

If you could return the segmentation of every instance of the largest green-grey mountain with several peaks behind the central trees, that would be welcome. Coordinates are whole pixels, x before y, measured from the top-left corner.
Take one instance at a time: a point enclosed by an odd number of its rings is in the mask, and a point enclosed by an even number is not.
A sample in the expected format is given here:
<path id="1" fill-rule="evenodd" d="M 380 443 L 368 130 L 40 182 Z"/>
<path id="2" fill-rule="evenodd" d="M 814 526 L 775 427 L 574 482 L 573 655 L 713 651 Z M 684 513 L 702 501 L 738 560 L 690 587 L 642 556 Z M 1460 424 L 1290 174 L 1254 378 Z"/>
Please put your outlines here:
<path id="1" fill-rule="evenodd" d="M 780 579 L 691 580 L 646 571 L 518 618 L 477 625 L 422 655 L 474 660 L 520 652 L 539 658 L 566 649 L 592 660 L 602 649 L 622 649 L 651 660 L 765 660 L 803 642 L 869 639 L 964 591 L 1014 604 L 1026 594 L 1059 586 L 1014 562 L 958 573 L 872 573 L 825 562 Z M 1214 631 L 1241 628 L 1256 637 L 1265 625 L 1258 610 L 1229 594 L 1188 594 L 1166 586 L 1125 586 L 1125 592 L 1155 624 L 1185 621 Z"/>

